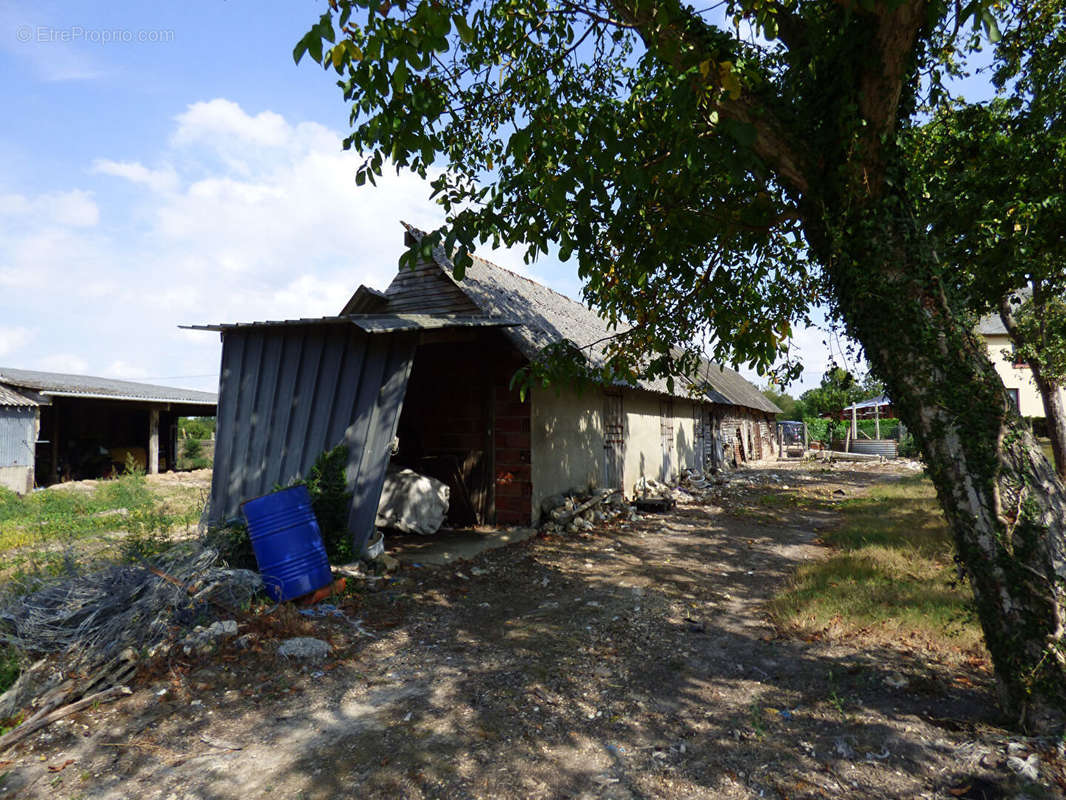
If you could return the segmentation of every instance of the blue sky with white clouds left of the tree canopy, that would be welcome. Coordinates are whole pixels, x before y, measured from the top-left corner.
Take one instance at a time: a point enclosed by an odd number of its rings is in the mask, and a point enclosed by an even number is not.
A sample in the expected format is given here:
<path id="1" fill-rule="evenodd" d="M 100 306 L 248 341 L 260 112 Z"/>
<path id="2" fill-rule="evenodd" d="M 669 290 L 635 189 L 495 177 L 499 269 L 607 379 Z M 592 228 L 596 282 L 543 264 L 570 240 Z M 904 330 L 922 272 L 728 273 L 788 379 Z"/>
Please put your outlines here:
<path id="1" fill-rule="evenodd" d="M 439 214 L 413 176 L 356 189 L 333 74 L 291 58 L 323 7 L 0 0 L 0 365 L 214 389 L 216 336 L 178 324 L 387 285 L 399 220 Z M 572 262 L 486 255 L 578 297 Z"/>

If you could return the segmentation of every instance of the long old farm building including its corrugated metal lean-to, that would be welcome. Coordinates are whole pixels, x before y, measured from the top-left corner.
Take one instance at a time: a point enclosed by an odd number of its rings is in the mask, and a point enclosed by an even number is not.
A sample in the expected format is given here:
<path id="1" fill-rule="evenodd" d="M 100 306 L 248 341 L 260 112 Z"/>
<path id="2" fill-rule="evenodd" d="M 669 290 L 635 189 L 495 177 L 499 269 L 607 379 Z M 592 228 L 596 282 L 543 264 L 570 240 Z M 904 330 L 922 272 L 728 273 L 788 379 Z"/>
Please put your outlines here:
<path id="1" fill-rule="evenodd" d="M 608 331 L 580 303 L 478 257 L 455 281 L 438 251 L 385 292 L 359 287 L 336 317 L 200 330 L 223 339 L 215 522 L 340 443 L 357 542 L 390 461 L 449 483 L 453 524 L 528 525 L 543 498 L 571 487 L 632 494 L 642 477 L 775 452 L 779 410 L 710 363 L 697 395 L 685 381 L 673 393 L 648 381 L 536 387 L 522 401 L 516 369 L 547 345 L 583 347 Z"/>

